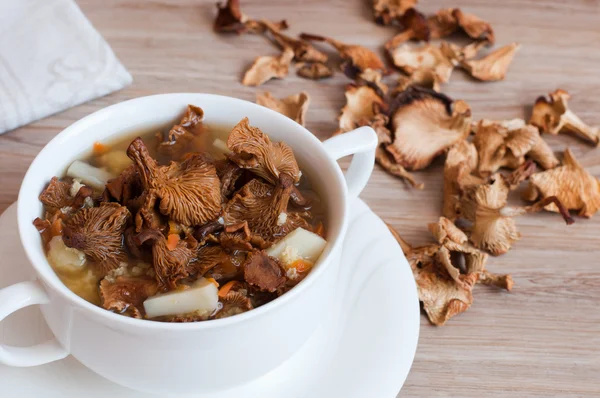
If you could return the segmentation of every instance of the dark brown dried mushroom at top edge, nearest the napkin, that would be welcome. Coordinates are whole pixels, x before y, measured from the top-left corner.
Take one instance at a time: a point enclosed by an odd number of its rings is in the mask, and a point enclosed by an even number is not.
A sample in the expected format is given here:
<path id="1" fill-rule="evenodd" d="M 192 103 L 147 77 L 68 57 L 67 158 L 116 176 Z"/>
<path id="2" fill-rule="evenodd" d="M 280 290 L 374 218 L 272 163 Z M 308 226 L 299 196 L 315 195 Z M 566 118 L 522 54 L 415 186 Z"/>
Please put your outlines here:
<path id="1" fill-rule="evenodd" d="M 217 18 L 213 28 L 215 32 L 233 32 L 242 34 L 246 32 L 263 33 L 266 29 L 262 22 L 248 18 L 240 9 L 239 0 L 227 0 L 225 5 L 217 3 Z M 273 24 L 278 30 L 286 29 L 285 20 Z"/>

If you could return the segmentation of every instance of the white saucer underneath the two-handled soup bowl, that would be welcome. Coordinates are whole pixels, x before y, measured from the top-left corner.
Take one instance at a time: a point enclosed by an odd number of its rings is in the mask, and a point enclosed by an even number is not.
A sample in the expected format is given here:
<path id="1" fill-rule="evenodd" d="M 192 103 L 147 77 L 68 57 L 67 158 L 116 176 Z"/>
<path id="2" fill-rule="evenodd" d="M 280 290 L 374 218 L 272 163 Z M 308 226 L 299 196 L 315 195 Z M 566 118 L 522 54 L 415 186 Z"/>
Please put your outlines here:
<path id="1" fill-rule="evenodd" d="M 16 210 L 13 204 L 0 217 L 0 288 L 35 278 L 19 241 Z M 400 247 L 361 200 L 353 205 L 339 284 L 345 288 L 335 292 L 328 324 L 298 353 L 271 373 L 210 397 L 395 397 L 417 348 L 419 302 Z M 37 307 L 0 322 L 3 344 L 27 346 L 50 335 Z M 73 357 L 32 368 L 0 365 L 0 391 L 7 398 L 156 397 L 113 384 Z"/>

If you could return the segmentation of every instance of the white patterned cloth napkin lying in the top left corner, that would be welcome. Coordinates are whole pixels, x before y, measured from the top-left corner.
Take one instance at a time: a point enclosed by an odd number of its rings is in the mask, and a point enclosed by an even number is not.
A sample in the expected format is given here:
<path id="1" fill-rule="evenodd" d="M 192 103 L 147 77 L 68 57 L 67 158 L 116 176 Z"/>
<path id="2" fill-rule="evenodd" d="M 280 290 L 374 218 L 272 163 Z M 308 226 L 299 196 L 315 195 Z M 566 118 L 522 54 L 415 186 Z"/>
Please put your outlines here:
<path id="1" fill-rule="evenodd" d="M 73 0 L 0 0 L 0 134 L 130 83 Z"/>

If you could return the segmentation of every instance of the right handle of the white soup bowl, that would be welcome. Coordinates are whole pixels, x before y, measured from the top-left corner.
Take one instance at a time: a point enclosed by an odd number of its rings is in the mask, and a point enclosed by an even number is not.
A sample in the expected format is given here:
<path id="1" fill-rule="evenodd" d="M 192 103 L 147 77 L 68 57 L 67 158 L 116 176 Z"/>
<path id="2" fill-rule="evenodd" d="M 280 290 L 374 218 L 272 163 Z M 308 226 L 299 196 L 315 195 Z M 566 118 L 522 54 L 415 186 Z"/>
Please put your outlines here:
<path id="1" fill-rule="evenodd" d="M 373 172 L 377 134 L 371 127 L 359 127 L 332 137 L 323 142 L 323 145 L 334 160 L 354 155 L 350 167 L 346 171 L 346 186 L 348 187 L 348 196 L 357 197 L 367 185 Z"/>

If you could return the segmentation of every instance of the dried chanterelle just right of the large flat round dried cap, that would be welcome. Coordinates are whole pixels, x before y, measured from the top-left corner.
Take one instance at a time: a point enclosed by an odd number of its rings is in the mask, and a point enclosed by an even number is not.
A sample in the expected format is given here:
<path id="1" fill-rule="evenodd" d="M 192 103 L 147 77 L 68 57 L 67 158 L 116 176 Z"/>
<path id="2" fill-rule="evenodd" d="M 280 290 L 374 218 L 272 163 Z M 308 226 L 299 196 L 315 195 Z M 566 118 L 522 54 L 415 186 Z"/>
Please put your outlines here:
<path id="1" fill-rule="evenodd" d="M 479 154 L 478 173 L 490 176 L 501 167 L 516 169 L 525 163 L 525 157 L 536 161 L 542 168 L 558 165 L 552 149 L 540 137 L 535 126 L 525 125 L 522 119 L 494 122 L 481 120 L 475 126 L 473 143 Z"/>

